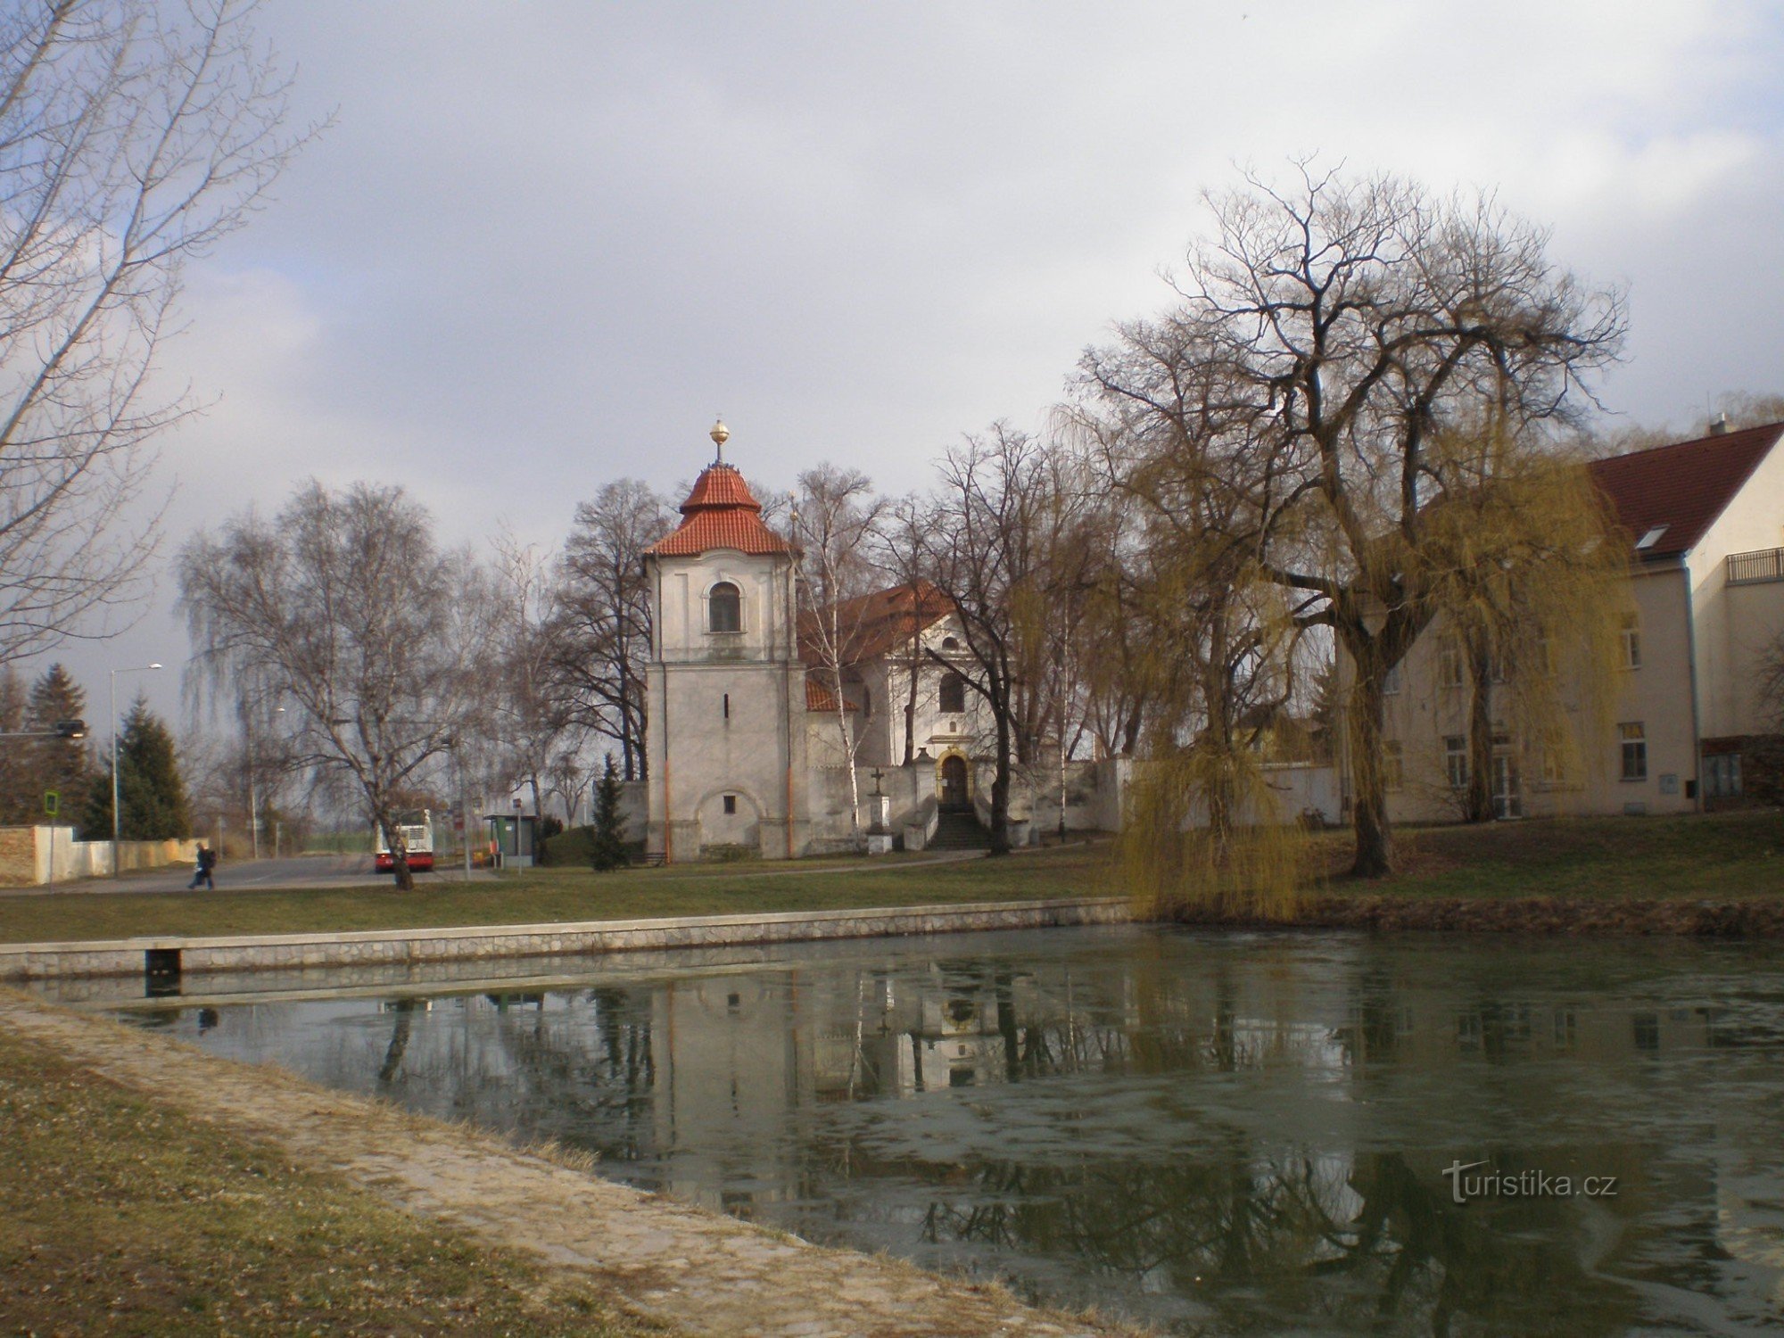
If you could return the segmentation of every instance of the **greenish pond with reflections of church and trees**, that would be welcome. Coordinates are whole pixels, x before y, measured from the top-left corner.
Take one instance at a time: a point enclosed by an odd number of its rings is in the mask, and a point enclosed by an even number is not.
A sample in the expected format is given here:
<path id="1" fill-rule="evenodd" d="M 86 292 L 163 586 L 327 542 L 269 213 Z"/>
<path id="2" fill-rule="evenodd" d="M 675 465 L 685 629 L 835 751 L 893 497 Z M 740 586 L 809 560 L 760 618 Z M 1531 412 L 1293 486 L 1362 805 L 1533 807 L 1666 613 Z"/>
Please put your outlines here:
<path id="1" fill-rule="evenodd" d="M 132 1017 L 1174 1333 L 1784 1326 L 1775 947 L 1110 928 L 753 958 Z"/>

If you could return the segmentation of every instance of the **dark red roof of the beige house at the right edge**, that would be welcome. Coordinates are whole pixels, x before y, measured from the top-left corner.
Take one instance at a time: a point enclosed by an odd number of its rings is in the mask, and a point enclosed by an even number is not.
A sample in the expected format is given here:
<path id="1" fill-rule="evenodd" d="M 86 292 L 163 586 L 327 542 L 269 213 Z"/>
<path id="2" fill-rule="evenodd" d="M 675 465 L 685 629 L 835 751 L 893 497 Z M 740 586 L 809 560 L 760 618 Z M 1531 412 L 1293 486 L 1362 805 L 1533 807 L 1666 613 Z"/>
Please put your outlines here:
<path id="1" fill-rule="evenodd" d="M 1629 542 L 1639 544 L 1661 530 L 1639 557 L 1673 558 L 1689 553 L 1704 537 L 1779 437 L 1784 437 L 1784 423 L 1772 423 L 1613 455 L 1593 460 L 1588 469 L 1629 532 Z"/>

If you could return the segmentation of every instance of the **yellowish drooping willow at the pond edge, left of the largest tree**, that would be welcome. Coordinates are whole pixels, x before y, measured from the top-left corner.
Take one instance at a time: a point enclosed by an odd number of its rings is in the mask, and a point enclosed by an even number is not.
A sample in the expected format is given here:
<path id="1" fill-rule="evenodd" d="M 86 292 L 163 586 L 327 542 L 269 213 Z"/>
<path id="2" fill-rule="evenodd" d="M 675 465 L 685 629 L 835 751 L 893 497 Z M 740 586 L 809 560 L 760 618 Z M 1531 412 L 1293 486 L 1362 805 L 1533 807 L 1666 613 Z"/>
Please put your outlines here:
<path id="1" fill-rule="evenodd" d="M 1152 730 L 1124 844 L 1161 910 L 1281 915 L 1302 842 L 1261 746 L 1297 690 L 1301 628 L 1256 558 L 1270 423 L 1211 353 L 1193 328 L 1140 321 L 1081 362 L 1074 417 L 1136 528 L 1111 603 L 1138 630 L 1129 692 Z"/>

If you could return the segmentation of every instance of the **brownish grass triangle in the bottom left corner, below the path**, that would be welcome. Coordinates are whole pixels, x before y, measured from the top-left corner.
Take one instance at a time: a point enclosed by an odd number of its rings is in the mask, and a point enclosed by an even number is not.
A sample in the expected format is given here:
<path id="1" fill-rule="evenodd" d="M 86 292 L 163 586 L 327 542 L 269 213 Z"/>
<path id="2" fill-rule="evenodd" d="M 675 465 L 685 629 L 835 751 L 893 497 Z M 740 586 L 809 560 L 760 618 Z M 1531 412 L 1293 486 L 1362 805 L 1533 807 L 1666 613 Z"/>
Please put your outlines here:
<path id="1" fill-rule="evenodd" d="M 0 1127 L 7 1333 L 660 1333 L 11 1035 Z"/>

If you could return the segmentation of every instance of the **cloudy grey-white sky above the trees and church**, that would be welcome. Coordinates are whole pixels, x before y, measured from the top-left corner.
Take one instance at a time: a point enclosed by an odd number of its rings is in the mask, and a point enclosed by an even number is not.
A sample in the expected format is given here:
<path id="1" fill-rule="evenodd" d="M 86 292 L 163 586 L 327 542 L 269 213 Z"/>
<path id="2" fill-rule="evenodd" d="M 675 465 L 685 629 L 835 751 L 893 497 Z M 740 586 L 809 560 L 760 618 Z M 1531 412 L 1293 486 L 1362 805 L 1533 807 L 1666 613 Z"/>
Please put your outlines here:
<path id="1" fill-rule="evenodd" d="M 1775 0 L 269 0 L 260 29 L 335 125 L 189 275 L 164 368 L 214 403 L 162 442 L 164 555 L 310 475 L 551 546 L 607 480 L 690 478 L 719 412 L 762 485 L 921 487 L 1165 303 L 1204 187 L 1302 153 L 1493 189 L 1625 284 L 1604 398 L 1636 421 L 1784 391 Z M 169 587 L 61 651 L 91 717 L 148 660 L 178 714 Z"/>

